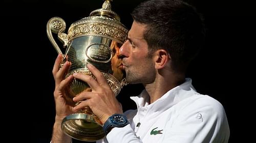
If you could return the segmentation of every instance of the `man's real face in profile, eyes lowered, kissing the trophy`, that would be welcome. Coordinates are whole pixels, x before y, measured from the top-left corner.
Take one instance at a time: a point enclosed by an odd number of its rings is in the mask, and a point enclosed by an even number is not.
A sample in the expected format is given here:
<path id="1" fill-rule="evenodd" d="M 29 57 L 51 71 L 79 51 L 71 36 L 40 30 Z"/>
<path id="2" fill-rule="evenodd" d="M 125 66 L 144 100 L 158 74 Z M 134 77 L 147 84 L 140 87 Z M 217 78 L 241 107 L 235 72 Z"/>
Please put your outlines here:
<path id="1" fill-rule="evenodd" d="M 133 22 L 128 33 L 128 40 L 121 46 L 119 53 L 122 58 L 126 81 L 129 83 L 152 83 L 156 70 L 153 58 L 149 58 L 147 42 L 143 37 L 145 26 Z M 151 56 L 153 57 L 153 56 Z"/>

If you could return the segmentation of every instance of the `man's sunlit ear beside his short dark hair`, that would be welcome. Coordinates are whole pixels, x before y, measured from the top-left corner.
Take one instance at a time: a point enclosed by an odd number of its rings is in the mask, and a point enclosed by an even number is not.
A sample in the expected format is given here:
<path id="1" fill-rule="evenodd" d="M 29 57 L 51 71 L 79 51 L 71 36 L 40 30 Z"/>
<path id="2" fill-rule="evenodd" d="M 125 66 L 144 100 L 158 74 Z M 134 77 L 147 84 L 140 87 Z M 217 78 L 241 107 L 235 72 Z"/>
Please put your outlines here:
<path id="1" fill-rule="evenodd" d="M 155 68 L 162 69 L 166 66 L 167 62 L 170 60 L 170 55 L 164 49 L 159 49 L 155 52 Z"/>

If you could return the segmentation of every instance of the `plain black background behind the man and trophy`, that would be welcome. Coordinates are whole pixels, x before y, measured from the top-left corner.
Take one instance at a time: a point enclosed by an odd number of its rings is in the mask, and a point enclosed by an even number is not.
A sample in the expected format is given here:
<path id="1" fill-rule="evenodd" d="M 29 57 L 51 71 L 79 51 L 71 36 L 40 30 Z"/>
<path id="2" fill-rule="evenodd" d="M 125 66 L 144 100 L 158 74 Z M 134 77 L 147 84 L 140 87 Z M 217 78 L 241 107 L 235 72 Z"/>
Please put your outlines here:
<path id="1" fill-rule="evenodd" d="M 130 28 L 132 18 L 129 13 L 140 2 L 114 0 L 112 10 Z M 198 92 L 223 104 L 230 126 L 229 142 L 249 142 L 253 137 L 249 130 L 253 130 L 255 122 L 254 5 L 249 1 L 188 2 L 204 15 L 207 28 L 206 44 L 191 64 L 188 77 L 193 79 Z M 6 100 L 19 103 L 14 107 L 15 113 L 22 115 L 18 119 L 25 119 L 19 124 L 28 130 L 24 141 L 39 143 L 51 139 L 55 116 L 51 72 L 57 52 L 46 34 L 48 20 L 61 17 L 68 28 L 72 22 L 101 8 L 102 4 L 101 0 L 2 1 L 1 50 L 5 56 L 2 58 L 2 78 L 7 79 L 4 90 L 11 93 Z M 117 98 L 124 110 L 135 107 L 129 96 L 135 96 L 141 90 L 140 84 L 123 88 Z"/>

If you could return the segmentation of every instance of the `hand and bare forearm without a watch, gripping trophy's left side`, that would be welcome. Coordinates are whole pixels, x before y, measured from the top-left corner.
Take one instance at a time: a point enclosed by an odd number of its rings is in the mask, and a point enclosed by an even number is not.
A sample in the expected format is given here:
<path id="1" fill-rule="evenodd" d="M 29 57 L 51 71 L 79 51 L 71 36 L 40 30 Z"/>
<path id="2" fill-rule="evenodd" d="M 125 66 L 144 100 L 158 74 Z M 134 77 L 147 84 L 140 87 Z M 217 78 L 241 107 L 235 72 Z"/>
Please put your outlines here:
<path id="1" fill-rule="evenodd" d="M 71 137 L 63 133 L 61 130 L 61 122 L 63 118 L 74 112 L 74 102 L 68 98 L 69 83 L 73 80 L 73 76 L 70 75 L 65 79 L 66 73 L 69 71 L 71 63 L 66 61 L 61 68 L 59 68 L 62 62 L 62 55 L 59 54 L 55 60 L 52 74 L 55 80 L 54 100 L 56 108 L 55 123 L 53 126 L 52 143 L 70 143 Z"/>

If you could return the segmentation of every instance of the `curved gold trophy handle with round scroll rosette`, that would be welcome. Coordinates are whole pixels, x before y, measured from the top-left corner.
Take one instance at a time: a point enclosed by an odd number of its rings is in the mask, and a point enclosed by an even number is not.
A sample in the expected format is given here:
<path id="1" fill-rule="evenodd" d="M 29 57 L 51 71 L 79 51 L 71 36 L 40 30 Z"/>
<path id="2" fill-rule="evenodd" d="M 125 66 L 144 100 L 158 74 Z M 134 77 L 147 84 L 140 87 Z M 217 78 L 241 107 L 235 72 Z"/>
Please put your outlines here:
<path id="1" fill-rule="evenodd" d="M 56 49 L 58 53 L 62 53 L 60 50 L 58 44 L 54 40 L 52 36 L 52 32 L 55 34 L 58 34 L 58 39 L 64 44 L 63 47 L 65 47 L 68 44 L 68 36 L 67 34 L 63 33 L 66 29 L 66 22 L 60 18 L 60 17 L 53 17 L 47 22 L 47 36 L 49 40 L 51 41 L 53 47 Z"/>

